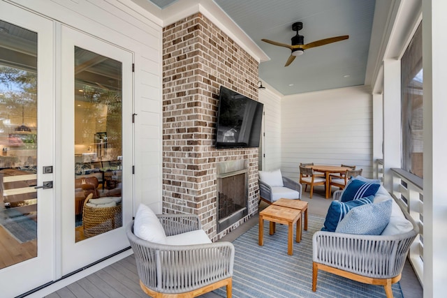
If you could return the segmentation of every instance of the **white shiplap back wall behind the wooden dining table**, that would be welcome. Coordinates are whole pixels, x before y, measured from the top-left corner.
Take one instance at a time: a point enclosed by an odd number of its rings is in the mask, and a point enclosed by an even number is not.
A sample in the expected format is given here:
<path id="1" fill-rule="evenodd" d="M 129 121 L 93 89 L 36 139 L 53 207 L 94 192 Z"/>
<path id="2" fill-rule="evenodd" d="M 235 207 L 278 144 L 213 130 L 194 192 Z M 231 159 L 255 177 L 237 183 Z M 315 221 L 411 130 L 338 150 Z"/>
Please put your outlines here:
<path id="1" fill-rule="evenodd" d="M 372 95 L 351 87 L 285 96 L 281 103 L 281 172 L 300 163 L 356 165 L 372 177 Z"/>

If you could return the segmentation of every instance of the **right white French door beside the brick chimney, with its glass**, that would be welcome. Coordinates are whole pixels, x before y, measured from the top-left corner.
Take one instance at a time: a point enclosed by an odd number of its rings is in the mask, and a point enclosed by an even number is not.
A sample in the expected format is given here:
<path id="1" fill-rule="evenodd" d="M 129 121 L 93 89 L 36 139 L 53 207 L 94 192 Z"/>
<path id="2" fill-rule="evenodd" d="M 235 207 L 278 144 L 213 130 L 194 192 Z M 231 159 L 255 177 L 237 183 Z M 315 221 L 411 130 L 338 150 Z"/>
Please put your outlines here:
<path id="1" fill-rule="evenodd" d="M 61 274 L 129 246 L 132 54 L 61 27 Z"/>

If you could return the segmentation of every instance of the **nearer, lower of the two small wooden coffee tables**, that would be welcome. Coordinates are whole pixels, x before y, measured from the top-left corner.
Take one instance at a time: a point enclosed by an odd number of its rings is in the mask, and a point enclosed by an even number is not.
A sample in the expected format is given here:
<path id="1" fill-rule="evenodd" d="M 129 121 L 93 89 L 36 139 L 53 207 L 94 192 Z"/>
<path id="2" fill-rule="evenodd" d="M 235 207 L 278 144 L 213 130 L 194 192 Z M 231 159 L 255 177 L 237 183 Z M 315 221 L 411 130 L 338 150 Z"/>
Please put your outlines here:
<path id="1" fill-rule="evenodd" d="M 264 220 L 270 221 L 270 234 L 274 234 L 276 223 L 288 225 L 287 253 L 293 255 L 293 225 L 296 223 L 296 240 L 301 241 L 301 210 L 271 204 L 259 212 L 259 239 L 258 244 L 264 244 Z"/>

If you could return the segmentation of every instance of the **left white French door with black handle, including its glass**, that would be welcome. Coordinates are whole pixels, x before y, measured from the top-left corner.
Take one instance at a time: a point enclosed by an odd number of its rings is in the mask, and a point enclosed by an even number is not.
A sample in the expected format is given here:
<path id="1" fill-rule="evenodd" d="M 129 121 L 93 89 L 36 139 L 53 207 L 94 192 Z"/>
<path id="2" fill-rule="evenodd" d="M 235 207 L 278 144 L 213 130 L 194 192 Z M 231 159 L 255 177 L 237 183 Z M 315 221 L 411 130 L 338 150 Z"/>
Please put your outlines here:
<path id="1" fill-rule="evenodd" d="M 53 22 L 0 1 L 0 291 L 55 277 Z"/>

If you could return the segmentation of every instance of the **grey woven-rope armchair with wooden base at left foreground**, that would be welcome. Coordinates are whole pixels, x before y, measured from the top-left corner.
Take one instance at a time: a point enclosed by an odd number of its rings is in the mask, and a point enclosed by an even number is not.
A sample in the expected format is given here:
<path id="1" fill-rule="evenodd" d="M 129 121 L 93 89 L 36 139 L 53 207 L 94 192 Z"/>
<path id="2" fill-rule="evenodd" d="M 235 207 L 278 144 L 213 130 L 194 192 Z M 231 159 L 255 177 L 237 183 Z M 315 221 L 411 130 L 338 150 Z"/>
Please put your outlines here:
<path id="1" fill-rule="evenodd" d="M 201 228 L 193 214 L 158 214 L 166 236 Z M 230 242 L 167 245 L 140 239 L 133 221 L 126 234 L 140 277 L 140 287 L 151 297 L 196 297 L 226 286 L 231 297 L 235 249 Z M 172 296 L 171 296 L 172 295 Z"/>

